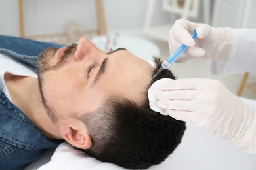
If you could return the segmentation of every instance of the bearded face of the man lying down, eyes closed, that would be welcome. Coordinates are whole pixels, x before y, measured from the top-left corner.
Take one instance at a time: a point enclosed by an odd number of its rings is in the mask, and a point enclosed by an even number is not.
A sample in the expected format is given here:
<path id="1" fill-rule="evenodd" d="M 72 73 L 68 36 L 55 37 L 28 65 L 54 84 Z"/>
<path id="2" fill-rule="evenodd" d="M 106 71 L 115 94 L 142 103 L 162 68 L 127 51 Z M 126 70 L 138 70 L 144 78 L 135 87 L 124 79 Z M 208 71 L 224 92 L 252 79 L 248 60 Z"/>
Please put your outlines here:
<path id="1" fill-rule="evenodd" d="M 39 55 L 39 83 L 45 105 L 62 118 L 93 112 L 110 95 L 142 103 L 140 88 L 153 67 L 127 50 L 102 52 L 88 39 Z"/>

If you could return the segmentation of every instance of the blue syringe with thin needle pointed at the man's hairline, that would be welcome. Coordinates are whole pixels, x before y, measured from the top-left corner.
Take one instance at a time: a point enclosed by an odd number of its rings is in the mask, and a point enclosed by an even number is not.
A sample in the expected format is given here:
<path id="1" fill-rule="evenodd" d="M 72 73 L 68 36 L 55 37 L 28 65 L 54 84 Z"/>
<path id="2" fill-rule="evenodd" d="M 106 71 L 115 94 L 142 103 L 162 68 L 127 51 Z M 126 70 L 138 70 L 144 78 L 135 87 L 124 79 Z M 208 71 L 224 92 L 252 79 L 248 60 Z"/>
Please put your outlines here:
<path id="1" fill-rule="evenodd" d="M 196 38 L 196 29 L 194 30 L 194 34 L 192 35 L 192 38 L 195 39 Z M 168 67 L 177 59 L 179 58 L 179 56 L 181 56 L 181 54 L 186 50 L 186 48 L 188 48 L 188 46 L 184 45 L 184 44 L 181 44 L 181 46 L 175 50 L 175 52 L 173 52 L 173 54 L 171 54 L 171 56 L 169 56 L 169 58 L 167 58 L 165 61 L 163 61 L 163 63 L 161 64 L 161 67 L 160 69 L 158 69 L 158 71 L 156 71 L 155 75 L 148 81 L 148 83 L 153 79 L 155 78 L 156 76 L 158 76 L 162 71 L 163 69 L 168 69 Z M 145 84 L 146 85 L 148 85 Z M 143 86 L 140 91 L 145 87 Z M 140 92 L 139 91 L 139 92 Z M 138 93 L 139 93 L 138 92 Z"/>

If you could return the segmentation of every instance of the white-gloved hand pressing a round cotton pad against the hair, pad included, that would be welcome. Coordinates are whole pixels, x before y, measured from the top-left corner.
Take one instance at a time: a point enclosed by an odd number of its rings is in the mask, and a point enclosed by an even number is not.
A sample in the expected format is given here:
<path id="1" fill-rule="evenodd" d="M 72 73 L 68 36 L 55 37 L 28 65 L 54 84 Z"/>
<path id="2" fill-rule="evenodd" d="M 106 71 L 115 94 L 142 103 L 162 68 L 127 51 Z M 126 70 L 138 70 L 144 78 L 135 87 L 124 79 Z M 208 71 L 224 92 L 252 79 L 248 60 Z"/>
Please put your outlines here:
<path id="1" fill-rule="evenodd" d="M 161 79 L 148 90 L 150 108 L 191 122 L 256 154 L 256 112 L 218 80 Z"/>

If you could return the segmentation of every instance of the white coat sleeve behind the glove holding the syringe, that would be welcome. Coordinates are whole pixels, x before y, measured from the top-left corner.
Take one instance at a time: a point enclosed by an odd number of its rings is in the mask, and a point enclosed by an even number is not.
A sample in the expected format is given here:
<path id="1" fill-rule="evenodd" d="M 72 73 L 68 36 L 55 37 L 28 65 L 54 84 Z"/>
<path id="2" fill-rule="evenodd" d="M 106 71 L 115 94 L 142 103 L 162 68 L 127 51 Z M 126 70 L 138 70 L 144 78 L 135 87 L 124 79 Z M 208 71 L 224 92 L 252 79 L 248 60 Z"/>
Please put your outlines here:
<path id="1" fill-rule="evenodd" d="M 227 61 L 212 61 L 213 75 L 256 71 L 256 29 L 234 29 L 238 37 L 238 49 Z"/>

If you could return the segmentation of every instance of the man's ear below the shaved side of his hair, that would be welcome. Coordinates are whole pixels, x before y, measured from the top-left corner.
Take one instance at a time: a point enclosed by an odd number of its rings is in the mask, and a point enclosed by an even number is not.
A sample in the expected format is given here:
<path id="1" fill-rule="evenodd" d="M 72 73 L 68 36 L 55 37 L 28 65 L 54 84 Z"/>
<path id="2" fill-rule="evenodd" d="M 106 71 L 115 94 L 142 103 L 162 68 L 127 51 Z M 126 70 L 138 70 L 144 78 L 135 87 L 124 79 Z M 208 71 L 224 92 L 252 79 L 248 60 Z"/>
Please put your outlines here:
<path id="1" fill-rule="evenodd" d="M 91 137 L 88 133 L 75 129 L 68 124 L 62 124 L 60 126 L 60 133 L 62 137 L 70 143 L 72 146 L 81 149 L 91 148 L 92 142 Z"/>

